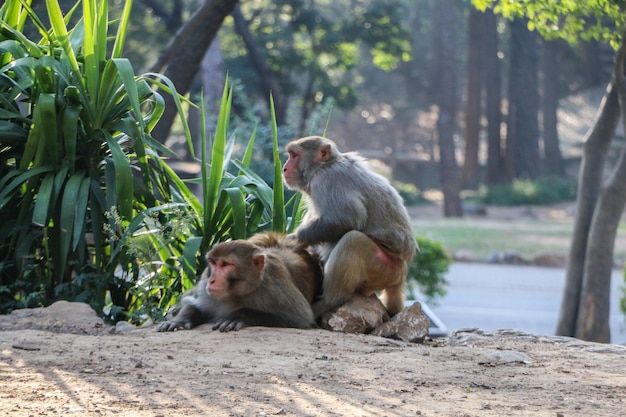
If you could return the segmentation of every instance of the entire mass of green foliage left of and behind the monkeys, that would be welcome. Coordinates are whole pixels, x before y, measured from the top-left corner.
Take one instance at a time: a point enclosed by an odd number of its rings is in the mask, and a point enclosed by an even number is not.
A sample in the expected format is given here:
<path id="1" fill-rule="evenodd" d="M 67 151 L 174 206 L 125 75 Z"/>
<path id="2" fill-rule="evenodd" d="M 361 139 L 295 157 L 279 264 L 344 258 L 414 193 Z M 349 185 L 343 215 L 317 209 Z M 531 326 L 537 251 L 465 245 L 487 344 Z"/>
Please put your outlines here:
<path id="1" fill-rule="evenodd" d="M 71 28 L 53 0 L 51 28 L 27 2 L 0 9 L 1 311 L 64 298 L 115 319 L 158 317 L 193 285 L 208 247 L 294 224 L 280 164 L 277 191 L 249 170 L 254 136 L 233 162 L 238 174 L 227 171 L 229 89 L 211 147 L 202 141 L 203 198 L 166 163 L 176 155 L 150 136 L 163 111 L 158 91 L 174 95 L 191 136 L 169 80 L 135 76 L 121 57 L 131 4 L 113 36 L 106 1 L 76 3 L 70 14 L 82 5 L 82 16 Z M 23 35 L 27 19 L 41 40 Z M 297 221 L 299 201 L 288 204 Z"/>

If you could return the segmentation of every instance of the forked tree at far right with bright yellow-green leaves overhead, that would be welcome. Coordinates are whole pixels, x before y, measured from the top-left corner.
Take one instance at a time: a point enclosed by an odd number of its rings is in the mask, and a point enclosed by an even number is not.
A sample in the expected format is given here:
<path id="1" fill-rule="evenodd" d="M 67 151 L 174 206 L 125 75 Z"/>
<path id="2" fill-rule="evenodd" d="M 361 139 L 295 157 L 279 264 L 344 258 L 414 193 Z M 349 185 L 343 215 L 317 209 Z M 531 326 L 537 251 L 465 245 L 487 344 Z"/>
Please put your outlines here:
<path id="1" fill-rule="evenodd" d="M 576 222 L 557 334 L 610 342 L 609 311 L 613 250 L 626 205 L 626 147 L 612 167 L 607 154 L 620 115 L 626 120 L 626 14 L 622 2 L 519 2 L 472 0 L 479 8 L 494 7 L 505 17 L 526 16 L 529 27 L 547 39 L 571 43 L 602 40 L 617 48 L 613 80 L 596 120 L 585 137 L 579 173 Z M 617 30 L 616 30 L 617 28 Z M 621 35 L 621 36 L 620 36 Z M 604 173 L 609 175 L 604 178 Z"/>

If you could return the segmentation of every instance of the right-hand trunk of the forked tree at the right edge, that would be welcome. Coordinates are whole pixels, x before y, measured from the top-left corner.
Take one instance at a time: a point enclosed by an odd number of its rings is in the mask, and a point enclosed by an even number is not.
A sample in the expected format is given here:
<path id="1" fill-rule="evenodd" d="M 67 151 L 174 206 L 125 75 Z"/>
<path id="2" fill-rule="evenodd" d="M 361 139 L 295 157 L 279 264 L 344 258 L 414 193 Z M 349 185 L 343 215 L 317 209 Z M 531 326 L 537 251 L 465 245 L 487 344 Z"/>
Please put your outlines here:
<path id="1" fill-rule="evenodd" d="M 626 85 L 624 79 L 626 57 L 626 31 L 615 55 L 614 80 L 619 99 L 622 125 L 626 127 Z M 600 192 L 587 243 L 582 297 L 575 336 L 594 342 L 609 343 L 609 311 L 611 301 L 611 272 L 613 250 L 619 220 L 626 205 L 626 145 L 622 145 L 620 157 Z"/>

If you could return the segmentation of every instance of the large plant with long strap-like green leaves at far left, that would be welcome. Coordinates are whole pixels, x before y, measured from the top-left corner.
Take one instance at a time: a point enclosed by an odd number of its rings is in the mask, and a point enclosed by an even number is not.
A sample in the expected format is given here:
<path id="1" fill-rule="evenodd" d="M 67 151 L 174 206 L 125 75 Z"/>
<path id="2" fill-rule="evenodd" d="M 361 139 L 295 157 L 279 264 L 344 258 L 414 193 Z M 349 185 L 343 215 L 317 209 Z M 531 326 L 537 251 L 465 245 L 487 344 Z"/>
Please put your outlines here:
<path id="1" fill-rule="evenodd" d="M 163 112 L 151 86 L 173 89 L 154 74 L 135 76 L 122 58 L 131 5 L 116 27 L 106 1 L 79 1 L 63 16 L 47 0 L 50 28 L 30 1 L 0 9 L 3 311 L 60 296 L 102 308 L 105 291 L 127 305 L 132 259 L 105 231 L 120 237 L 143 210 L 184 203 L 161 158 L 176 155 L 150 137 Z M 41 39 L 22 33 L 27 21 Z"/>

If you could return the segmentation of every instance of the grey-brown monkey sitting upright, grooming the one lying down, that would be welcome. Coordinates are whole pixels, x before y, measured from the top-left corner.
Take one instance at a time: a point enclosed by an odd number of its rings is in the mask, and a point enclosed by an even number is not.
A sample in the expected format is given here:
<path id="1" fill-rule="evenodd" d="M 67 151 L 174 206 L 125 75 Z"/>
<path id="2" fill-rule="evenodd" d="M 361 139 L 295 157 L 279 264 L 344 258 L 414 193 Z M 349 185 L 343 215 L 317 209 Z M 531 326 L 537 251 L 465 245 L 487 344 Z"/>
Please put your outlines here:
<path id="1" fill-rule="evenodd" d="M 355 293 L 377 291 L 391 315 L 400 312 L 417 243 L 398 192 L 361 157 L 339 152 L 329 139 L 301 138 L 286 150 L 285 183 L 307 197 L 296 237 L 316 245 L 324 262 L 324 297 L 313 304 L 315 317 Z"/>

